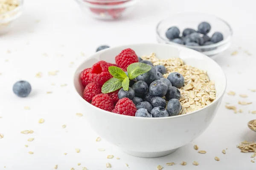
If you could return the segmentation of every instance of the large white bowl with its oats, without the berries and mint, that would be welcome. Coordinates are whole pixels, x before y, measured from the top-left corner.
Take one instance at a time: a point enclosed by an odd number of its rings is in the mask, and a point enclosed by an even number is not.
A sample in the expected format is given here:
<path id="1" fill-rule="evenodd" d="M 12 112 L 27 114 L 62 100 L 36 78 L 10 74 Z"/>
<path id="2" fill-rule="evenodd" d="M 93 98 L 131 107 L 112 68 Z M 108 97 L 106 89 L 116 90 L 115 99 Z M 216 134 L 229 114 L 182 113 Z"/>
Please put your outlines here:
<path id="1" fill-rule="evenodd" d="M 164 77 L 172 72 L 183 75 L 184 85 L 179 88 L 182 109 L 177 116 L 126 116 L 96 108 L 83 99 L 81 71 L 100 60 L 114 63 L 116 55 L 126 48 L 133 49 L 137 56 L 153 65 L 164 65 L 167 70 Z M 225 74 L 211 58 L 180 45 L 159 43 L 130 44 L 99 51 L 78 66 L 73 82 L 76 97 L 92 129 L 124 152 L 148 158 L 168 155 L 200 136 L 212 122 L 226 89 Z M 150 132 L 145 133 L 146 130 Z"/>

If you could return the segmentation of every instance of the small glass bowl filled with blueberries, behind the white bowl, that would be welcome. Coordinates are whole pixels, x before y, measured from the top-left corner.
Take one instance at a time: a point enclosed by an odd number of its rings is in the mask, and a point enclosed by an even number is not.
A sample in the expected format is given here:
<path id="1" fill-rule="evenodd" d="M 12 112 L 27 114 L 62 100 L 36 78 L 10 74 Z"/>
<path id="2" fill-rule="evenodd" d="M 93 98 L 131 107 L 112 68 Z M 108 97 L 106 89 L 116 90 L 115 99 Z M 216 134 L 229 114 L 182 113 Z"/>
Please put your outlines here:
<path id="1" fill-rule="evenodd" d="M 175 14 L 157 24 L 158 42 L 183 45 L 207 56 L 225 51 L 232 34 L 226 21 L 210 14 Z"/>

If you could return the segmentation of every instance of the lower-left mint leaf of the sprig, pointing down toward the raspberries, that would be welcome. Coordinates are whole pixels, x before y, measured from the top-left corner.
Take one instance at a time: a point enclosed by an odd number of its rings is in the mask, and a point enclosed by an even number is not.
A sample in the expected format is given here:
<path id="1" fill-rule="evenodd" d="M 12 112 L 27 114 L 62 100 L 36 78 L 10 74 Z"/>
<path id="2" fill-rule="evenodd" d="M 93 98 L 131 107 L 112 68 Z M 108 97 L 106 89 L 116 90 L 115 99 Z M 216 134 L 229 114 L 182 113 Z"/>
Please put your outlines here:
<path id="1" fill-rule="evenodd" d="M 102 86 L 102 93 L 110 93 L 116 91 L 119 88 L 122 88 L 122 81 L 123 80 L 114 77 L 109 79 Z"/>

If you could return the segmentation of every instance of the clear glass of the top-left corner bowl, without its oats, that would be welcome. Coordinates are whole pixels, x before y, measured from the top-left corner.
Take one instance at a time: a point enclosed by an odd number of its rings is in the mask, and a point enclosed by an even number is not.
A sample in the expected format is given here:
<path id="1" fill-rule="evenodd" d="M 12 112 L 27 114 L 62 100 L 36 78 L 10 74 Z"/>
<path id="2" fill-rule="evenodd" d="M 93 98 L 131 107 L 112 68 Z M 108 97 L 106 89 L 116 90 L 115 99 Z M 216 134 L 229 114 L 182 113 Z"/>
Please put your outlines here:
<path id="1" fill-rule="evenodd" d="M 22 14 L 23 0 L 17 1 L 19 2 L 19 6 L 14 8 L 12 11 L 0 14 L 0 35 L 6 34 L 9 31 L 12 23 Z"/>

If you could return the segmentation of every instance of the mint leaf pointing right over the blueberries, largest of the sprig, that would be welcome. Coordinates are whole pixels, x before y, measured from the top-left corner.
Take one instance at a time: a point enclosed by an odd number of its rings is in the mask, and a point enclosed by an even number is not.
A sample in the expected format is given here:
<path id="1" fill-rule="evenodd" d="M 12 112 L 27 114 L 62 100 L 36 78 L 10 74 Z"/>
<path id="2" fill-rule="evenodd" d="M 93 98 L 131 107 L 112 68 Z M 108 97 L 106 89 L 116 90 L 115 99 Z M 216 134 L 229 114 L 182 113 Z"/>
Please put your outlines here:
<path id="1" fill-rule="evenodd" d="M 142 62 L 135 62 L 128 66 L 127 72 L 130 79 L 135 79 L 141 74 L 144 74 L 150 71 L 151 67 Z"/>

